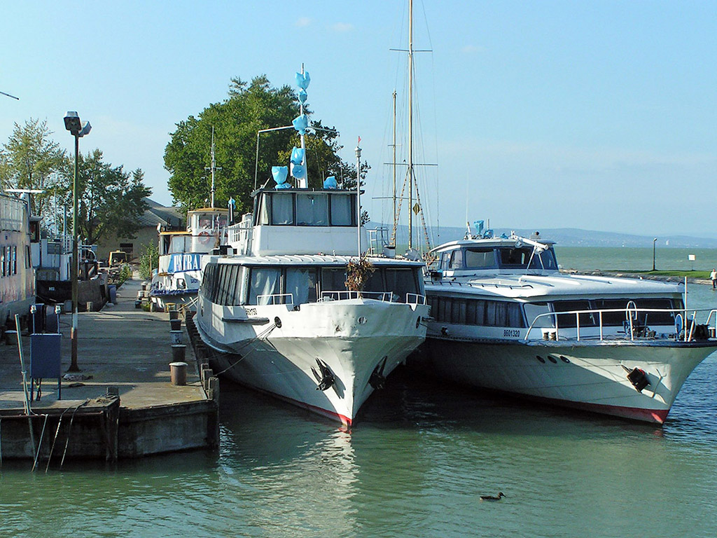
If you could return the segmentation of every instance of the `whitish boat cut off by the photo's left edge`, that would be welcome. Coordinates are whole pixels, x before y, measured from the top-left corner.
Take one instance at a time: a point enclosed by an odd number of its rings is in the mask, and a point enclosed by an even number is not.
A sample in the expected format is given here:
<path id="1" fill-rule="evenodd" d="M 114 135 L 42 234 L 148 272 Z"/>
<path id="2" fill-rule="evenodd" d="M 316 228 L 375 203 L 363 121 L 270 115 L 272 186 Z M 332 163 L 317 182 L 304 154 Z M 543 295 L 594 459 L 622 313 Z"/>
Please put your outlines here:
<path id="1" fill-rule="evenodd" d="M 11 326 L 15 314 L 25 317 L 35 302 L 31 239 L 39 238 L 24 199 L 0 194 L 0 330 Z"/>

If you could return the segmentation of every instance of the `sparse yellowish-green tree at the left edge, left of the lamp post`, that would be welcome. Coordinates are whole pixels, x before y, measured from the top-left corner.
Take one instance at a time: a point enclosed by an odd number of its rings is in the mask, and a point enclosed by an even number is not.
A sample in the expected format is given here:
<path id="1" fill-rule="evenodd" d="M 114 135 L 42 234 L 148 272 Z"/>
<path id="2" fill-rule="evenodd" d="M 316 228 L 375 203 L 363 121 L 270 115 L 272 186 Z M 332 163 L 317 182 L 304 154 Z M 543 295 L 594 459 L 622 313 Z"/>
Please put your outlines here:
<path id="1" fill-rule="evenodd" d="M 66 181 L 65 151 L 49 136 L 47 121 L 30 118 L 14 124 L 9 141 L 0 149 L 0 185 L 3 189 L 41 189 L 32 197 L 32 211 L 47 217 L 55 190 Z"/>

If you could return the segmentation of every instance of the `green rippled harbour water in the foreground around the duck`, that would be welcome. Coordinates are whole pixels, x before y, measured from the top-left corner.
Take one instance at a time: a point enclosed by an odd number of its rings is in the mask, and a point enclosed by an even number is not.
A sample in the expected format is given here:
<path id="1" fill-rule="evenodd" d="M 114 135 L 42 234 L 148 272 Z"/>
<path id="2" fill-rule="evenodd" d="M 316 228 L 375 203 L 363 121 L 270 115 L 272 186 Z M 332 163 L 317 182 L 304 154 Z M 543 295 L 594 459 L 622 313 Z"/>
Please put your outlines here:
<path id="1" fill-rule="evenodd" d="M 706 286 L 689 291 L 695 308 L 716 301 Z M 387 385 L 350 434 L 224 383 L 217 453 L 48 473 L 4 461 L 0 536 L 717 535 L 714 355 L 662 428 L 484 397 L 405 369 Z M 479 500 L 498 491 L 500 503 Z"/>

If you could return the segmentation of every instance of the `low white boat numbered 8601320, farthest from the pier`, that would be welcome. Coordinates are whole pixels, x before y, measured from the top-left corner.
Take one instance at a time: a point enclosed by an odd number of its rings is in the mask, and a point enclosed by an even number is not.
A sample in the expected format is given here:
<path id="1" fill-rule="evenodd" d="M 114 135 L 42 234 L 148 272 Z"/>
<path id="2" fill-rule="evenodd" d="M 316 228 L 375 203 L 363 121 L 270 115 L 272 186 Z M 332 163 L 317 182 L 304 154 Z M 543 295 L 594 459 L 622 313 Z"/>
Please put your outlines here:
<path id="1" fill-rule="evenodd" d="M 714 311 L 693 321 L 683 285 L 560 273 L 553 244 L 537 235 L 468 235 L 432 253 L 422 358 L 431 374 L 663 423 L 717 349 Z"/>

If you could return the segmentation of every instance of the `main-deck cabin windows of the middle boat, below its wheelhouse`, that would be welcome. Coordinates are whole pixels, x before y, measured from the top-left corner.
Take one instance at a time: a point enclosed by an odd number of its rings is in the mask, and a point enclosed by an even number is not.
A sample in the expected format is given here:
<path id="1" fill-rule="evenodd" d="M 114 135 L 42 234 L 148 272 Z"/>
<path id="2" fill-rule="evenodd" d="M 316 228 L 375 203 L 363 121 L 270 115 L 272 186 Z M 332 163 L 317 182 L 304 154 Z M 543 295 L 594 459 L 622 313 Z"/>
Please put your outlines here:
<path id="1" fill-rule="evenodd" d="M 396 301 L 403 303 L 407 294 L 421 293 L 421 285 L 418 269 L 376 268 L 364 291 L 390 291 Z M 210 263 L 204 268 L 201 282 L 202 295 L 221 305 L 315 303 L 321 291 L 346 291 L 346 268 Z"/>

